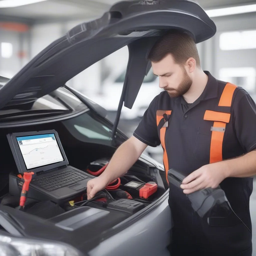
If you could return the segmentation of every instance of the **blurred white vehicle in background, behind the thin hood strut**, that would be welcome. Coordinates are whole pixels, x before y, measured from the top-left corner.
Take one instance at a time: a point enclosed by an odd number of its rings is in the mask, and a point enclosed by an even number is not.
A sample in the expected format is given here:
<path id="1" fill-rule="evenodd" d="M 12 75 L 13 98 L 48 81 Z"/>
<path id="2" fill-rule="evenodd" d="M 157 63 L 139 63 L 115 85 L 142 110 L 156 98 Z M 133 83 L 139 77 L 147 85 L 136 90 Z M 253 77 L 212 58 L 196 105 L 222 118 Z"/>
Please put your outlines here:
<path id="1" fill-rule="evenodd" d="M 95 102 L 100 103 L 108 111 L 108 116 L 115 116 L 118 108 L 122 88 L 125 81 L 126 70 L 122 72 L 113 72 L 104 80 L 102 84 L 101 95 L 92 98 Z M 147 110 L 150 102 L 158 95 L 163 89 L 159 88 L 159 78 L 153 74 L 152 69 L 143 79 L 140 90 L 132 109 L 122 108 L 120 119 L 134 120 L 142 118 L 144 112 Z M 145 97 L 146 96 L 146 97 Z"/>

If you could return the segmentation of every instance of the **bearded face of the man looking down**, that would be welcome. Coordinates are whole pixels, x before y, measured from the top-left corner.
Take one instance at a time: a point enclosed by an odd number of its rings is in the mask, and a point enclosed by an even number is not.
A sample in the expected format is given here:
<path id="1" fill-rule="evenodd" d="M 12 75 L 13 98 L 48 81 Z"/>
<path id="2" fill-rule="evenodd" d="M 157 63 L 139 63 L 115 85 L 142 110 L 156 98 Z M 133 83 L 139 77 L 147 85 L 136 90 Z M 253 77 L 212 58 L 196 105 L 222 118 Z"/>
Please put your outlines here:
<path id="1" fill-rule="evenodd" d="M 168 92 L 170 97 L 184 95 L 192 84 L 185 67 L 175 63 L 171 54 L 159 62 L 152 62 L 153 73 L 159 76 L 159 87 Z"/>

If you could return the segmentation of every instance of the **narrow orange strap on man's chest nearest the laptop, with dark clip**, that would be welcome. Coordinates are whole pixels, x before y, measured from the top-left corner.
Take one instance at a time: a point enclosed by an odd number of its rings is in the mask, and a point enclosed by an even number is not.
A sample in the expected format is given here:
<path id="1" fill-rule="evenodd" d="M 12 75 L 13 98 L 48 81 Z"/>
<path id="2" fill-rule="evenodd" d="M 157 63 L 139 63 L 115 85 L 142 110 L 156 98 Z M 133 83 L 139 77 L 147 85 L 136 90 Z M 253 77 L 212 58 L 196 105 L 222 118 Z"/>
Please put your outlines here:
<path id="1" fill-rule="evenodd" d="M 167 114 L 170 115 L 172 113 L 171 110 L 157 110 L 156 111 L 156 124 L 157 126 L 159 125 L 160 121 L 164 118 L 163 115 Z M 169 163 L 168 163 L 168 156 L 167 156 L 167 152 L 166 152 L 166 147 L 165 147 L 165 132 L 166 132 L 166 128 L 167 127 L 162 127 L 160 129 L 160 141 L 164 150 L 164 156 L 163 156 L 163 162 L 164 162 L 164 168 L 165 168 L 165 175 L 166 175 L 166 180 L 167 183 L 169 185 L 168 182 L 168 170 L 169 170 Z"/>

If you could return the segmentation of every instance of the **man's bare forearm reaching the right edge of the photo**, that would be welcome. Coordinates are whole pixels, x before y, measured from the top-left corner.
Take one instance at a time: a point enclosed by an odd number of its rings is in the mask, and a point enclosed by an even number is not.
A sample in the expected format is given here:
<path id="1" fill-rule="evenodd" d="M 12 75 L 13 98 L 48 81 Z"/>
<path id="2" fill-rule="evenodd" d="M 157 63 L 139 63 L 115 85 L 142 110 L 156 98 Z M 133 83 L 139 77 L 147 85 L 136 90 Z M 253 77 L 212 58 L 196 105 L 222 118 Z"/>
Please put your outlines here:
<path id="1" fill-rule="evenodd" d="M 227 177 L 251 177 L 256 175 L 256 151 L 243 156 L 220 162 L 225 165 Z"/>

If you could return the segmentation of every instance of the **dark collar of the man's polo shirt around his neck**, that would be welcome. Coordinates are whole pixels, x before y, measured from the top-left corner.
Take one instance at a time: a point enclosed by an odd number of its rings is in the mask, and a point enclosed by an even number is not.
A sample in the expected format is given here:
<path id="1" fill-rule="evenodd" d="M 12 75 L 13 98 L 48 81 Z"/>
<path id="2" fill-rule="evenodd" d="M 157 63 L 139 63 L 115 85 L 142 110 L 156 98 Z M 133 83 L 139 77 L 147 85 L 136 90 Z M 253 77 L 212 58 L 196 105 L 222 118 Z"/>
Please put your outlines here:
<path id="1" fill-rule="evenodd" d="M 218 97 L 218 82 L 209 71 L 204 71 L 208 76 L 206 87 L 199 97 L 199 100 L 209 100 Z M 187 104 L 182 96 L 175 99 L 175 103 Z"/>

